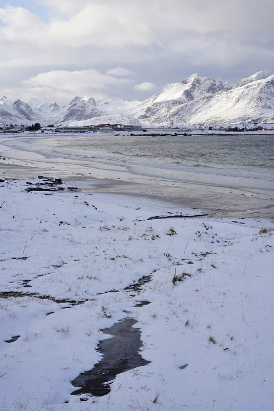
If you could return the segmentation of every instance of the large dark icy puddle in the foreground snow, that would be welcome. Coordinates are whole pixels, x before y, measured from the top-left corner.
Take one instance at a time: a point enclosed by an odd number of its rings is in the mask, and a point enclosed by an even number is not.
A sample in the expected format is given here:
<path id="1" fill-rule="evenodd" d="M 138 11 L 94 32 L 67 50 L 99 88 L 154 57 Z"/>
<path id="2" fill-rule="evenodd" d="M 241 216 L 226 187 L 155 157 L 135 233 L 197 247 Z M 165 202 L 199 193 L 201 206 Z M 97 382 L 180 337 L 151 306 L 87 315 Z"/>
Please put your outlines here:
<path id="1" fill-rule="evenodd" d="M 99 344 L 98 350 L 104 354 L 102 361 L 71 381 L 74 387 L 81 387 L 73 391 L 73 395 L 103 397 L 110 392 L 111 382 L 108 382 L 114 380 L 116 375 L 150 363 L 138 353 L 142 346 L 141 332 L 139 328 L 132 328 L 134 324 L 135 320 L 126 319 L 102 330 L 105 334 L 113 335 L 113 338 Z"/>

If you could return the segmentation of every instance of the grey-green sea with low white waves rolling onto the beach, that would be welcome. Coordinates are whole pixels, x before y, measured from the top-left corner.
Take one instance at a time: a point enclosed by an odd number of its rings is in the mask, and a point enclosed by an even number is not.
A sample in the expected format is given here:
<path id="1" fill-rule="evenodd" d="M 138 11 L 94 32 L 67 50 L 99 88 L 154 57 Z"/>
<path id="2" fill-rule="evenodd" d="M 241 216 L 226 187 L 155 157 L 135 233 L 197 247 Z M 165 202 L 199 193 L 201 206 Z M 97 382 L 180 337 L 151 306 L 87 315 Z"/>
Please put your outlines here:
<path id="1" fill-rule="evenodd" d="M 97 169 L 174 181 L 263 186 L 274 181 L 274 135 L 52 136 L 10 138 L 16 150 L 48 162 L 66 159 Z M 271 184 L 272 185 L 272 184 Z"/>

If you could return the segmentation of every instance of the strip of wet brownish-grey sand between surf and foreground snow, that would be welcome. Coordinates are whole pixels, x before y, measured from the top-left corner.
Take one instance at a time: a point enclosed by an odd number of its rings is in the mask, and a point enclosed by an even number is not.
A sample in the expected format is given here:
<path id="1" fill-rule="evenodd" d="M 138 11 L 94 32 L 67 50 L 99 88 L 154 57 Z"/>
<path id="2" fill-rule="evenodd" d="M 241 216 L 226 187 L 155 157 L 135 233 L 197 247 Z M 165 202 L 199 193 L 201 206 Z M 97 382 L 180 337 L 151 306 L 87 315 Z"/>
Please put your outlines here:
<path id="1" fill-rule="evenodd" d="M 143 179 L 143 183 L 121 179 L 100 179 L 73 172 L 56 172 L 46 167 L 1 164 L 4 178 L 30 179 L 38 175 L 61 177 L 89 193 L 108 193 L 164 201 L 173 206 L 214 212 L 216 217 L 265 218 L 274 220 L 274 183 L 269 189 L 236 189 L 227 186 Z M 167 206 L 168 207 L 168 206 Z"/>

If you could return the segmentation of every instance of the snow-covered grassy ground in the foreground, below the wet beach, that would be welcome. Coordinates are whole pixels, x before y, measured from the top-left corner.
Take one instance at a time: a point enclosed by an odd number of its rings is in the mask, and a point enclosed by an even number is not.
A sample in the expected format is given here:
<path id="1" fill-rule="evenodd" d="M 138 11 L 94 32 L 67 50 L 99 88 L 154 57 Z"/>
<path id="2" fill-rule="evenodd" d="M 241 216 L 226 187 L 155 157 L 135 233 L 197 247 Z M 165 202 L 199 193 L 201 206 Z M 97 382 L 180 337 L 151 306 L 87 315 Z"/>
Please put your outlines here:
<path id="1" fill-rule="evenodd" d="M 0 183 L 1 411 L 273 409 L 273 222 L 147 220 L 182 210 L 29 186 Z M 71 395 L 127 317 L 150 363 Z"/>

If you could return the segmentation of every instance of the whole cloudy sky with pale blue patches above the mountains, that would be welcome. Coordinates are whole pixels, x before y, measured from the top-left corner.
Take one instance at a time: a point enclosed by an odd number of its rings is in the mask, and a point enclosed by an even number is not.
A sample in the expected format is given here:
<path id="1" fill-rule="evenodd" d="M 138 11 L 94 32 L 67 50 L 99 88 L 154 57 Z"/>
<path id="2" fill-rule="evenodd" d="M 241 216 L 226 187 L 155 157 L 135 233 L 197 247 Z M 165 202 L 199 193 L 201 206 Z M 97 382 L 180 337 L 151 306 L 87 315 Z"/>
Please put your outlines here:
<path id="1" fill-rule="evenodd" d="M 0 0 L 0 97 L 144 100 L 274 71 L 273 0 Z"/>

